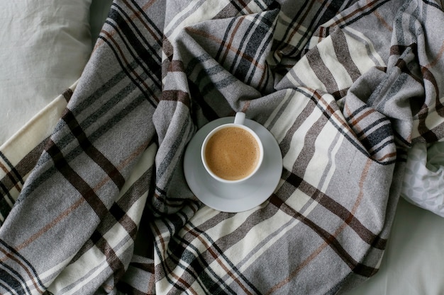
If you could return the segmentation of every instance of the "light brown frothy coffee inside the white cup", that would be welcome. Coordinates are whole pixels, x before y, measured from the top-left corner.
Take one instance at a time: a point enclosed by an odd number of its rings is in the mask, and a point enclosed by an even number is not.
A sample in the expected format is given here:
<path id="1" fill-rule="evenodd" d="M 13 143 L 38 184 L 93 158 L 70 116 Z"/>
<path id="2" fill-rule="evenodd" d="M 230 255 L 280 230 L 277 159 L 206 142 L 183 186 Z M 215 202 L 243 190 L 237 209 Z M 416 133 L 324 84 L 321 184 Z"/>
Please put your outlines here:
<path id="1" fill-rule="evenodd" d="M 255 170 L 260 147 L 255 137 L 239 127 L 226 127 L 209 139 L 205 149 L 206 164 L 218 177 L 240 180 Z"/>

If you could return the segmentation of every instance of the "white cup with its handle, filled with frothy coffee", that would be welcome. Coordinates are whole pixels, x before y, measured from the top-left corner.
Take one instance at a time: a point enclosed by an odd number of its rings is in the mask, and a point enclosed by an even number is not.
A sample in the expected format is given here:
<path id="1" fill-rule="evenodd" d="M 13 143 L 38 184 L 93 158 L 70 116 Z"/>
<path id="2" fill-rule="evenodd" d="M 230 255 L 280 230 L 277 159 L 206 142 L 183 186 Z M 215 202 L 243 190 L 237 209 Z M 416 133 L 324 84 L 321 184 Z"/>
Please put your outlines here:
<path id="1" fill-rule="evenodd" d="M 245 181 L 262 164 L 262 142 L 244 122 L 245 112 L 237 112 L 233 123 L 211 130 L 202 144 L 201 158 L 206 171 L 222 183 Z"/>

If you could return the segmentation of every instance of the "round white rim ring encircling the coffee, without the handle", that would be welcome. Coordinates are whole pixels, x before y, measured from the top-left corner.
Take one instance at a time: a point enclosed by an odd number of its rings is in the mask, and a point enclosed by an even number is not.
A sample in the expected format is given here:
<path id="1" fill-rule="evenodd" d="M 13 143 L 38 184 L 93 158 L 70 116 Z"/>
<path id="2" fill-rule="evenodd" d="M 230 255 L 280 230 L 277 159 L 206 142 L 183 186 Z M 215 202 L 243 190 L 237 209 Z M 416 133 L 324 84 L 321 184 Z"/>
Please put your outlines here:
<path id="1" fill-rule="evenodd" d="M 238 127 L 238 128 L 246 130 L 248 133 L 250 133 L 252 135 L 252 137 L 255 138 L 257 145 L 259 146 L 259 159 L 257 161 L 257 165 L 256 165 L 255 169 L 252 170 L 252 173 L 245 176 L 245 178 L 240 178 L 240 179 L 236 179 L 236 180 L 228 180 L 225 178 L 221 178 L 220 176 L 214 174 L 206 163 L 205 149 L 206 149 L 206 145 L 208 144 L 209 139 L 213 136 L 213 134 L 215 134 L 219 130 L 225 129 L 228 127 Z M 257 173 L 257 170 L 259 170 L 260 166 L 262 166 L 263 158 L 264 158 L 264 146 L 262 145 L 262 140 L 260 140 L 260 137 L 256 134 L 256 132 L 254 130 L 252 130 L 250 127 L 245 126 L 243 124 L 226 123 L 223 125 L 219 125 L 218 127 L 215 127 L 214 129 L 211 130 L 211 132 L 209 132 L 209 134 L 206 134 L 204 142 L 202 143 L 202 146 L 201 146 L 201 161 L 204 164 L 204 168 L 205 168 L 206 172 L 208 172 L 211 175 L 211 177 L 220 181 L 221 183 L 241 183 L 245 180 L 248 180 L 249 178 L 252 177 L 252 175 L 255 175 Z"/>

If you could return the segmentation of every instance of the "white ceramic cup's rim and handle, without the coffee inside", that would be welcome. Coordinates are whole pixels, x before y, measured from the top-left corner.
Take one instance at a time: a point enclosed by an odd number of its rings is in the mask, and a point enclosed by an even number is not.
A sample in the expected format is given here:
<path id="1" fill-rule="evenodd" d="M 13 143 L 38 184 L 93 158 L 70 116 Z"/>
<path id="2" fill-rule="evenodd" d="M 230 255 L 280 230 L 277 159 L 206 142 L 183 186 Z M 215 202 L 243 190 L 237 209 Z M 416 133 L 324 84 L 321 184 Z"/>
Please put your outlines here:
<path id="1" fill-rule="evenodd" d="M 209 134 L 206 135 L 204 142 L 202 144 L 202 148 L 201 148 L 202 163 L 204 163 L 204 167 L 205 167 L 206 171 L 209 173 L 209 175 L 211 175 L 214 179 L 220 181 L 221 183 L 243 182 L 243 181 L 247 180 L 248 178 L 251 178 L 252 175 L 255 175 L 255 173 L 257 172 L 257 170 L 259 170 L 259 168 L 262 164 L 262 160 L 264 158 L 264 147 L 262 146 L 262 141 L 260 140 L 260 138 L 257 136 L 257 134 L 252 129 L 250 129 L 249 127 L 244 125 L 244 121 L 245 121 L 245 112 L 237 112 L 233 123 L 220 125 L 220 126 L 214 128 L 213 130 L 211 130 L 211 132 L 209 132 Z M 215 173 L 213 173 L 211 168 L 209 168 L 209 164 L 207 163 L 206 156 L 205 156 L 206 147 L 209 143 L 209 139 L 211 139 L 211 137 L 213 137 L 213 135 L 216 134 L 216 132 L 221 131 L 221 129 L 230 128 L 230 127 L 238 127 L 240 129 L 243 129 L 246 132 L 248 132 L 255 139 L 258 149 L 259 149 L 259 151 L 258 151 L 259 155 L 257 158 L 257 164 L 256 164 L 255 168 L 250 173 L 248 173 L 248 175 L 246 175 L 245 177 L 240 178 L 240 179 L 236 179 L 236 180 L 228 180 L 228 179 L 222 178 L 222 177 L 216 175 Z"/>

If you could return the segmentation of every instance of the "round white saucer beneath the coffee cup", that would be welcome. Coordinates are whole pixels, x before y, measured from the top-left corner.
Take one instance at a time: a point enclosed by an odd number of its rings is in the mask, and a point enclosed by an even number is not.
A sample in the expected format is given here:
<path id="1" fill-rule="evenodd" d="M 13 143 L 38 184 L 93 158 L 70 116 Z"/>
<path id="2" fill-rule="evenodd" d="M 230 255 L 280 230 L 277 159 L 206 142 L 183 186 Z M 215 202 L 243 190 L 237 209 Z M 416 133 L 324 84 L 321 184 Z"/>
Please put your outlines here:
<path id="1" fill-rule="evenodd" d="M 282 154 L 273 135 L 259 123 L 245 119 L 262 140 L 264 159 L 257 173 L 243 183 L 220 183 L 206 172 L 201 160 L 201 145 L 206 134 L 222 124 L 234 121 L 223 117 L 199 129 L 187 146 L 184 155 L 184 173 L 187 183 L 198 199 L 222 212 L 243 212 L 264 202 L 277 187 L 282 173 Z"/>

